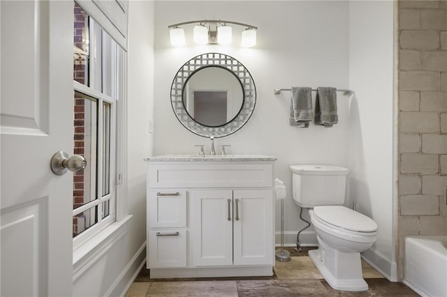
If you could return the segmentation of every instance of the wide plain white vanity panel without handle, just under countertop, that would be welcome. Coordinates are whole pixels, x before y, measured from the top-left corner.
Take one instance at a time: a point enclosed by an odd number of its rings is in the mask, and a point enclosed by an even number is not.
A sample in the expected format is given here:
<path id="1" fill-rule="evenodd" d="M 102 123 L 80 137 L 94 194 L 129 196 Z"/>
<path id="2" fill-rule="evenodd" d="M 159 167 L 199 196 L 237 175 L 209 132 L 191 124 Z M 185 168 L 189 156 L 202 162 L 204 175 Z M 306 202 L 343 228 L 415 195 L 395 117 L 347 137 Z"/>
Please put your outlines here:
<path id="1" fill-rule="evenodd" d="M 272 164 L 149 164 L 152 188 L 271 187 Z"/>

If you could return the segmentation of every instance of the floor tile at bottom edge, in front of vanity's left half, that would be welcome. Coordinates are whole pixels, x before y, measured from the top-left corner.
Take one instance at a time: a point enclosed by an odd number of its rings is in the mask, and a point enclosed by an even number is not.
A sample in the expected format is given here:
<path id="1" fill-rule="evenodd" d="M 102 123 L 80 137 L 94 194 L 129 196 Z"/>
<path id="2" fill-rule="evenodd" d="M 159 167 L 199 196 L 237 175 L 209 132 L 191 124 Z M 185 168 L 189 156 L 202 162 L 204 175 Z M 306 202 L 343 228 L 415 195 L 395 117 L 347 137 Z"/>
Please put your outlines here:
<path id="1" fill-rule="evenodd" d="M 153 282 L 147 296 L 237 297 L 237 285 L 235 280 Z"/>

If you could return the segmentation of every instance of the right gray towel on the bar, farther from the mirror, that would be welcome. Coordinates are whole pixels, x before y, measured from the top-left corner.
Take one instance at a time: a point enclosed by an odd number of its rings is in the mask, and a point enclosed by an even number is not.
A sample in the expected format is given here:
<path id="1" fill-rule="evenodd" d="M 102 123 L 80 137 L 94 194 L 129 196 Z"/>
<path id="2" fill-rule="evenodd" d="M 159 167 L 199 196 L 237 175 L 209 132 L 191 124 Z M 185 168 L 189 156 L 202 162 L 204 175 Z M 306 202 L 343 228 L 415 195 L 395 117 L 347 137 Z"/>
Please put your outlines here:
<path id="1" fill-rule="evenodd" d="M 318 86 L 315 100 L 315 124 L 332 127 L 338 123 L 337 89 Z"/>

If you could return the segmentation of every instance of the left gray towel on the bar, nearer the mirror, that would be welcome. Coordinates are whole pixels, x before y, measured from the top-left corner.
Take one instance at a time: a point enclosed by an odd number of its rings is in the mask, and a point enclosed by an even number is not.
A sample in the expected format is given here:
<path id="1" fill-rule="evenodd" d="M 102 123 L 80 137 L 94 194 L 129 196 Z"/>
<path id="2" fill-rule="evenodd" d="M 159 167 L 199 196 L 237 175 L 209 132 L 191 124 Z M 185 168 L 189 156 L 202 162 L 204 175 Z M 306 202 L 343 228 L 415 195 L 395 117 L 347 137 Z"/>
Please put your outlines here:
<path id="1" fill-rule="evenodd" d="M 290 125 L 307 128 L 309 127 L 309 122 L 314 118 L 312 88 L 308 86 L 293 86 L 291 91 Z"/>

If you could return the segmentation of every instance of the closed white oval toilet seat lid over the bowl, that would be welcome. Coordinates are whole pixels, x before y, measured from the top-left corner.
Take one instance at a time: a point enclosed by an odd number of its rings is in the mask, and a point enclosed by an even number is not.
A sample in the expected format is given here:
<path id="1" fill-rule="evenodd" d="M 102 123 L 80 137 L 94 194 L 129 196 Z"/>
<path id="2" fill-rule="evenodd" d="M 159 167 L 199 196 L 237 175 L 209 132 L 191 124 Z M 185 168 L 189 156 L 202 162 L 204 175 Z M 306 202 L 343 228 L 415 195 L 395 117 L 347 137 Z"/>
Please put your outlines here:
<path id="1" fill-rule="evenodd" d="M 320 220 L 343 229 L 357 232 L 374 232 L 377 230 L 377 224 L 374 220 L 344 206 L 315 206 L 314 214 Z"/>

